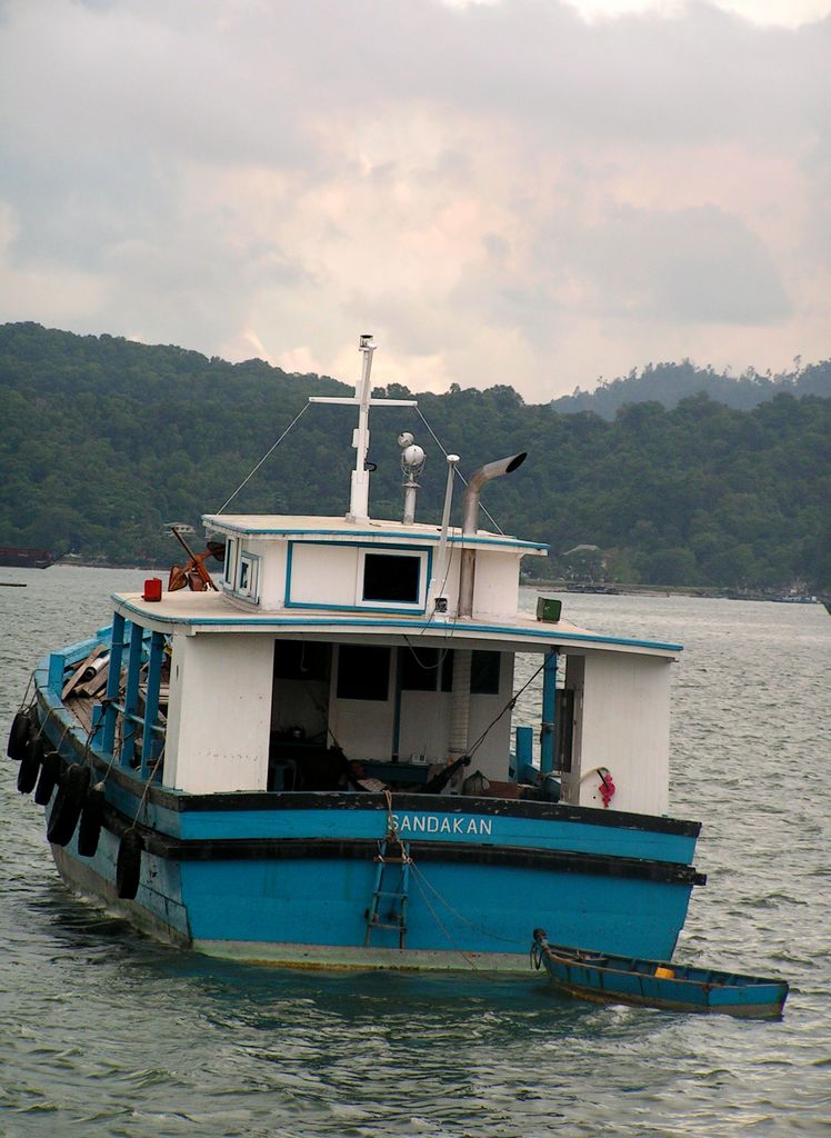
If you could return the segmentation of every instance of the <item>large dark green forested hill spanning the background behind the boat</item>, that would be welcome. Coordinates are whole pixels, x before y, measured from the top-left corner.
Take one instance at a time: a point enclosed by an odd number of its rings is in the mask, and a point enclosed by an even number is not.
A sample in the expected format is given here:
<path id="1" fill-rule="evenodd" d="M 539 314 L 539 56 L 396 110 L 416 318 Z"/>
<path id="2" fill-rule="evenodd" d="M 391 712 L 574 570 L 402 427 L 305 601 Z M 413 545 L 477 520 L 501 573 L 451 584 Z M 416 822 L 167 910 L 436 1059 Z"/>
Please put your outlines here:
<path id="1" fill-rule="evenodd" d="M 232 365 L 178 347 L 0 325 L 0 545 L 168 563 L 178 547 L 165 522 L 198 526 L 308 395 L 352 390 L 257 360 Z M 390 385 L 385 394 L 408 393 Z M 419 412 L 466 473 L 528 451 L 515 475 L 487 487 L 485 505 L 507 531 L 553 553 L 598 546 L 595 574 L 831 589 L 831 399 L 780 394 L 737 411 L 699 395 L 672 410 L 626 406 L 608 422 L 526 405 L 510 387 L 454 386 L 420 395 Z M 311 405 L 229 511 L 345 513 L 353 427 L 348 409 Z M 417 516 L 438 521 L 445 463 L 411 409 L 373 413 L 372 513 L 401 516 L 402 430 L 428 453 Z"/>

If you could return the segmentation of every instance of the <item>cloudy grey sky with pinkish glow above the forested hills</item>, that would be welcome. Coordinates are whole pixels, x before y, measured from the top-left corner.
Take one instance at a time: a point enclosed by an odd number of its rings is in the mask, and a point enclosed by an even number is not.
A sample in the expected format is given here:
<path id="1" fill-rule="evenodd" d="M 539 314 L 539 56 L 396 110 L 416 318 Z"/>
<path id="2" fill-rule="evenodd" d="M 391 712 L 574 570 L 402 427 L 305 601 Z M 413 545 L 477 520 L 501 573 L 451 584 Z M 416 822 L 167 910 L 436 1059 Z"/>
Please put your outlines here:
<path id="1" fill-rule="evenodd" d="M 0 0 L 0 322 L 541 402 L 831 355 L 831 0 Z"/>

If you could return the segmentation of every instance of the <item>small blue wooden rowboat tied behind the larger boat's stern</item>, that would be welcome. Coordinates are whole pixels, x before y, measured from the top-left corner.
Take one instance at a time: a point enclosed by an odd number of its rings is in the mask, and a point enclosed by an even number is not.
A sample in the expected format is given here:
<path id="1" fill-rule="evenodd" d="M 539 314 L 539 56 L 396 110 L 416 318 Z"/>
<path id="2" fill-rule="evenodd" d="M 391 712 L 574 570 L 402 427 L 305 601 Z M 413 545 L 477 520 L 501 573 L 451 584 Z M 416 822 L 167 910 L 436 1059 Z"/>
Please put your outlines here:
<path id="1" fill-rule="evenodd" d="M 563 948 L 549 945 L 543 929 L 534 930 L 530 958 L 562 991 L 603 1004 L 779 1019 L 788 998 L 784 980 Z"/>

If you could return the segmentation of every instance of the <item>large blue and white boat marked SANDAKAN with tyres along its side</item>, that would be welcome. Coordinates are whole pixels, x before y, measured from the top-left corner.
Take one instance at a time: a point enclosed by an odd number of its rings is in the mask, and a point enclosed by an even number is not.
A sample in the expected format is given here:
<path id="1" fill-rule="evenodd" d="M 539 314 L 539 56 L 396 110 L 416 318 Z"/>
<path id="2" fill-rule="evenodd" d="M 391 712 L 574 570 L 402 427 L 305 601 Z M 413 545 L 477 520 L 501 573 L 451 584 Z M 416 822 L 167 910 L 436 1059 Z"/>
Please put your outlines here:
<path id="1" fill-rule="evenodd" d="M 155 937 L 283 965 L 527 968 L 558 943 L 667 959 L 699 824 L 668 816 L 680 645 L 519 610 L 537 542 L 479 526 L 488 462 L 449 523 L 417 522 L 423 451 L 398 439 L 402 520 L 371 519 L 375 345 L 345 517 L 206 514 L 206 554 L 114 597 L 51 652 L 13 724 L 18 786 L 60 875 Z M 521 476 L 518 476 L 521 478 Z M 171 588 L 190 584 L 190 588 Z M 538 678 L 537 678 L 538 677 Z M 537 678 L 536 728 L 513 729 Z"/>

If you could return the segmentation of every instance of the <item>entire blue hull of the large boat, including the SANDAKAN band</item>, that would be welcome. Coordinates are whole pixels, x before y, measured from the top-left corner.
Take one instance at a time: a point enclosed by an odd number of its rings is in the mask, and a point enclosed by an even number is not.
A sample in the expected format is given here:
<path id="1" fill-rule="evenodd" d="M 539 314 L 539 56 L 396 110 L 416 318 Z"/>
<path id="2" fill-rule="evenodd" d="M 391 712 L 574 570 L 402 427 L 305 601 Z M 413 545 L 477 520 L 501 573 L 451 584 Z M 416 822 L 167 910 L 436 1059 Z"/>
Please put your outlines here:
<path id="1" fill-rule="evenodd" d="M 38 674 L 43 733 L 105 782 L 92 857 L 52 846 L 77 891 L 155 937 L 212 955 L 355 967 L 527 968 L 528 914 L 562 943 L 669 957 L 694 884 L 699 826 L 550 802 L 355 792 L 184 794 L 113 765 Z M 55 808 L 47 805 L 47 819 Z M 116 861 L 134 830 L 134 898 Z M 379 851 L 396 832 L 406 881 Z M 401 852 L 387 842 L 387 857 Z M 375 894 L 380 898 L 375 917 Z M 392 900 L 387 898 L 392 894 Z"/>

